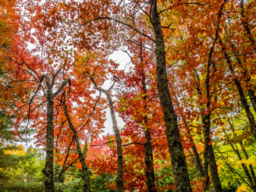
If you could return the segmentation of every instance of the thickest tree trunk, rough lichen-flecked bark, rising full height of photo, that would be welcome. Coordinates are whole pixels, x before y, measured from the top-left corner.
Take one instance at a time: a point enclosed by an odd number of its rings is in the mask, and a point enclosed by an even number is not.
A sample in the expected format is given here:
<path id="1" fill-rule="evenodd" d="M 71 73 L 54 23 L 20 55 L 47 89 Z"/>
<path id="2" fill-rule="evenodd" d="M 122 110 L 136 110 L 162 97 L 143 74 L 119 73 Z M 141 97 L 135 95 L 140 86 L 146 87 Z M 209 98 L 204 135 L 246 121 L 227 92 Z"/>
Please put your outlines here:
<path id="1" fill-rule="evenodd" d="M 177 124 L 177 116 L 172 105 L 169 93 L 166 61 L 165 42 L 162 34 L 162 25 L 157 8 L 157 1 L 151 0 L 151 23 L 155 32 L 155 55 L 158 97 L 161 102 L 162 112 L 165 119 L 165 129 L 168 141 L 169 153 L 172 162 L 175 190 L 180 192 L 192 191 L 187 171 L 187 162 L 180 140 L 180 132 Z"/>

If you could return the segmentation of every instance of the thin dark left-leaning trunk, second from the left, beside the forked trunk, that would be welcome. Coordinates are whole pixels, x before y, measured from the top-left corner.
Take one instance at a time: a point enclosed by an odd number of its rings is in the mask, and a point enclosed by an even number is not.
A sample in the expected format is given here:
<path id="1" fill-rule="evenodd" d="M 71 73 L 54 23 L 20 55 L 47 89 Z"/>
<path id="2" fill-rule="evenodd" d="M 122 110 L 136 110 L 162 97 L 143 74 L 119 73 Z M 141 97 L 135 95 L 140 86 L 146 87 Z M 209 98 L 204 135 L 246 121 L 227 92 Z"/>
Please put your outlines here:
<path id="1" fill-rule="evenodd" d="M 65 112 L 66 119 L 68 119 L 68 122 L 69 122 L 69 127 L 73 131 L 73 134 L 74 134 L 74 137 L 75 137 L 75 140 L 76 140 L 76 150 L 78 151 L 79 160 L 80 160 L 80 163 L 82 165 L 82 172 L 83 172 L 82 178 L 84 180 L 84 192 L 90 192 L 91 189 L 90 189 L 90 180 L 89 180 L 88 168 L 87 168 L 87 165 L 85 164 L 84 153 L 83 153 L 83 151 L 80 147 L 80 141 L 79 141 L 78 133 L 77 133 L 75 127 L 73 126 L 73 123 L 72 123 L 72 121 L 69 117 L 68 109 L 67 109 L 66 103 L 65 103 L 65 95 L 64 95 L 64 101 L 63 101 L 63 111 Z"/>

